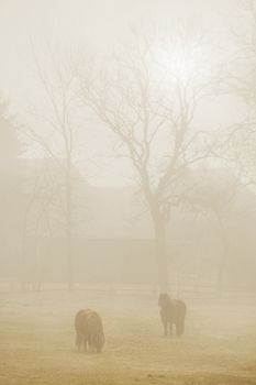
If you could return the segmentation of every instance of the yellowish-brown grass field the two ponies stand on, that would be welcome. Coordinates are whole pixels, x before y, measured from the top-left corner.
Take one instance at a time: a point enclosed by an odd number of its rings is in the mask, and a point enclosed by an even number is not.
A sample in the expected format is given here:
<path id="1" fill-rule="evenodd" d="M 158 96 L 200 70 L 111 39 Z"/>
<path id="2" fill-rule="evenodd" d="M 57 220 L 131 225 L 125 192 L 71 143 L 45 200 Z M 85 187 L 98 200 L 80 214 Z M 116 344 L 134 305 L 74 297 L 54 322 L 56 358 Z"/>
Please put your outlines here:
<path id="1" fill-rule="evenodd" d="M 186 334 L 164 338 L 153 297 L 0 293 L 0 385 L 256 384 L 256 304 L 187 305 Z M 75 350 L 74 316 L 86 307 L 103 318 L 102 354 Z"/>

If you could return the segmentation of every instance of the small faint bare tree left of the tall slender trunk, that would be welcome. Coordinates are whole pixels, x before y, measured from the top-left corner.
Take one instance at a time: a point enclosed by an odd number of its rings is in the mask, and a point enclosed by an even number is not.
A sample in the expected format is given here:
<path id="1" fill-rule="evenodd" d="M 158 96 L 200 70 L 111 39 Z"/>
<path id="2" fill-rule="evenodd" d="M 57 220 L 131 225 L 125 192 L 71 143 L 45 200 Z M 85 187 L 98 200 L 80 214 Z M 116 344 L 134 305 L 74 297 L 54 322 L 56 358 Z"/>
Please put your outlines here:
<path id="1" fill-rule="evenodd" d="M 51 161 L 51 162 L 49 162 Z M 33 288 L 40 288 L 43 274 L 46 271 L 45 255 L 42 255 L 42 241 L 56 237 L 62 227 L 63 180 L 58 169 L 53 169 L 51 158 L 23 160 L 22 186 L 22 237 L 21 237 L 21 284 L 27 288 L 32 279 Z M 33 253 L 32 260 L 27 254 Z M 40 271 L 42 270 L 42 271 Z"/>

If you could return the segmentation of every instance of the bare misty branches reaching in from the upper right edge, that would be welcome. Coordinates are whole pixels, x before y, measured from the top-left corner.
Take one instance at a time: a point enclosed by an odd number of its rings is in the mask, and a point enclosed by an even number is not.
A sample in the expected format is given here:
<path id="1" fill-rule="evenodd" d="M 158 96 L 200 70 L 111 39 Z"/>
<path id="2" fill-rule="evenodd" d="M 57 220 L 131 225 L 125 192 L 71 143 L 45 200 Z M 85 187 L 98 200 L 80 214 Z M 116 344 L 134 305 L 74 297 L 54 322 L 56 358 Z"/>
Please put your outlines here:
<path id="1" fill-rule="evenodd" d="M 243 180 L 256 186 L 256 1 L 237 2 L 236 16 L 244 20 L 232 31 L 233 56 L 223 65 L 219 92 L 231 95 L 243 108 L 241 121 L 227 130 L 223 150 Z"/>

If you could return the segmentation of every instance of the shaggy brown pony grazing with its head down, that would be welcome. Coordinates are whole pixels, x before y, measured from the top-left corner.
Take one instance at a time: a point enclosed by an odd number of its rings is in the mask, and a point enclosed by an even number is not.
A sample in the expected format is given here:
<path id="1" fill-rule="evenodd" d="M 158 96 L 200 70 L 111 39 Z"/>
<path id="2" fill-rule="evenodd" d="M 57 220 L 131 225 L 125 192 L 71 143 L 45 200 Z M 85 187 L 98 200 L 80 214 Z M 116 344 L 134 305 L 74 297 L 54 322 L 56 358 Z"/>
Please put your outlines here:
<path id="1" fill-rule="evenodd" d="M 81 309 L 75 317 L 76 345 L 78 351 L 100 353 L 104 345 L 103 323 L 97 311 Z"/>

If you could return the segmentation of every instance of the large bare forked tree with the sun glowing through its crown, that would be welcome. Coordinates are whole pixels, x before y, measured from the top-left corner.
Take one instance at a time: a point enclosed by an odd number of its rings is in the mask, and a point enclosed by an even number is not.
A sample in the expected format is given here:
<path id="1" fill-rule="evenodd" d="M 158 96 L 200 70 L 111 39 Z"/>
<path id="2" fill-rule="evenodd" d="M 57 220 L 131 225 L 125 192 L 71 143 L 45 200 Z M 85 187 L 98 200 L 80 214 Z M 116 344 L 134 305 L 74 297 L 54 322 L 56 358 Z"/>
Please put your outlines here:
<path id="1" fill-rule="evenodd" d="M 104 69 L 99 66 L 91 75 L 81 68 L 80 94 L 119 139 L 114 156 L 130 160 L 134 167 L 153 221 L 160 290 L 167 292 L 166 226 L 171 207 L 186 196 L 189 167 L 211 151 L 209 132 L 193 124 L 209 74 L 203 69 L 203 36 L 196 31 L 180 29 L 175 38 L 134 32 L 133 42 L 104 62 Z"/>

